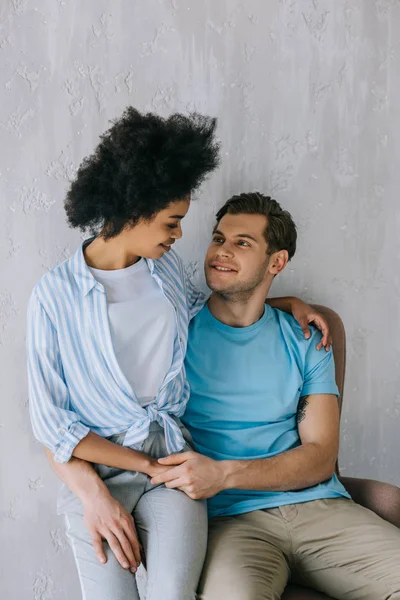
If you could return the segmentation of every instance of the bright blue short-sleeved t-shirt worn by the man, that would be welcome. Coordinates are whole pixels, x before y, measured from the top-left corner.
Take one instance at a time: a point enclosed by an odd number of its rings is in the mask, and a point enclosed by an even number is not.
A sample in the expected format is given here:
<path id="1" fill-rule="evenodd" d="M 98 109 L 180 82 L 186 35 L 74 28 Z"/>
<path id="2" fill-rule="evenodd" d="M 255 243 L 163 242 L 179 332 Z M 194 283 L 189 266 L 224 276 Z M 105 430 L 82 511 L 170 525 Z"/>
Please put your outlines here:
<path id="1" fill-rule="evenodd" d="M 192 320 L 186 354 L 191 394 L 182 418 L 196 450 L 215 460 L 268 458 L 301 444 L 296 412 L 301 396 L 335 394 L 332 352 L 318 351 L 291 316 L 265 306 L 250 327 L 218 321 L 207 305 Z M 336 475 L 293 492 L 230 489 L 208 500 L 210 517 L 349 497 Z"/>

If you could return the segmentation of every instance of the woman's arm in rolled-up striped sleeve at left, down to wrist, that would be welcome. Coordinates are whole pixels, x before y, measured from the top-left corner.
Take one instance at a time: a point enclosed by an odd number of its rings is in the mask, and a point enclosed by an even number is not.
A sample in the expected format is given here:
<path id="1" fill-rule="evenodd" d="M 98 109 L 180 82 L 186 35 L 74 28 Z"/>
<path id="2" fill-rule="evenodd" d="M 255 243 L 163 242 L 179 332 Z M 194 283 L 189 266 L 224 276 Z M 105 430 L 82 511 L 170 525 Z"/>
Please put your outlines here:
<path id="1" fill-rule="evenodd" d="M 75 456 L 110 467 L 147 471 L 150 457 L 94 434 L 71 410 L 57 331 L 35 291 L 28 311 L 27 360 L 33 431 L 53 453 L 55 462 L 67 463 Z"/>

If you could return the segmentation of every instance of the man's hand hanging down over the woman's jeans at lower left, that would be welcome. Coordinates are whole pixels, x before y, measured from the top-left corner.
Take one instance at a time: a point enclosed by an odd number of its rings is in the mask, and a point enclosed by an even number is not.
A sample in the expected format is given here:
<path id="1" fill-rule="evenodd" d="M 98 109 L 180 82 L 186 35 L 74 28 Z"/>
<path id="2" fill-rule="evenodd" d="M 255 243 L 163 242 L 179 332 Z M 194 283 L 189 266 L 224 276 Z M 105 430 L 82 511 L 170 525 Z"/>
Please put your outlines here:
<path id="1" fill-rule="evenodd" d="M 102 540 L 106 540 L 122 568 L 135 573 L 141 562 L 141 544 L 131 514 L 107 492 L 85 502 L 84 522 L 96 556 L 107 562 Z"/>

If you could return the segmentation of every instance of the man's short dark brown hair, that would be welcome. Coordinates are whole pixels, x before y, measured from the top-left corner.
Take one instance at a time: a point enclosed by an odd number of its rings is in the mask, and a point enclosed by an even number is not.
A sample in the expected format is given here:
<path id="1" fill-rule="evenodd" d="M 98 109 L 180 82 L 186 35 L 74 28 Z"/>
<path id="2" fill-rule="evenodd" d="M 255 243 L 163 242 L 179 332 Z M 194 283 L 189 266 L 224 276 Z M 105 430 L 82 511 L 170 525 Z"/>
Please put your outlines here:
<path id="1" fill-rule="evenodd" d="M 226 214 L 230 215 L 263 215 L 267 217 L 264 237 L 268 254 L 287 250 L 289 260 L 296 252 L 296 225 L 287 210 L 270 196 L 260 192 L 251 192 L 232 196 L 217 212 L 217 224 Z"/>

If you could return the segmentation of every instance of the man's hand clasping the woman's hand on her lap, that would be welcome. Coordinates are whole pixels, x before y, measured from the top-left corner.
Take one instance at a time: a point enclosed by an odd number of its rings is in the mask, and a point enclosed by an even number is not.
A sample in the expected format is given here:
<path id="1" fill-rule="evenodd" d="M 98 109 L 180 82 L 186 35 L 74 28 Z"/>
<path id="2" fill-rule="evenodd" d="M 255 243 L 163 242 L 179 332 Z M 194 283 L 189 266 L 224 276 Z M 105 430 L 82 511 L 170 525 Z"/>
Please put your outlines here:
<path id="1" fill-rule="evenodd" d="M 225 472 L 223 461 L 216 461 L 197 452 L 170 454 L 158 460 L 165 473 L 152 478 L 152 484 L 165 483 L 167 488 L 177 488 L 193 500 L 211 498 L 223 489 Z"/>

